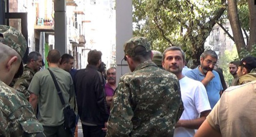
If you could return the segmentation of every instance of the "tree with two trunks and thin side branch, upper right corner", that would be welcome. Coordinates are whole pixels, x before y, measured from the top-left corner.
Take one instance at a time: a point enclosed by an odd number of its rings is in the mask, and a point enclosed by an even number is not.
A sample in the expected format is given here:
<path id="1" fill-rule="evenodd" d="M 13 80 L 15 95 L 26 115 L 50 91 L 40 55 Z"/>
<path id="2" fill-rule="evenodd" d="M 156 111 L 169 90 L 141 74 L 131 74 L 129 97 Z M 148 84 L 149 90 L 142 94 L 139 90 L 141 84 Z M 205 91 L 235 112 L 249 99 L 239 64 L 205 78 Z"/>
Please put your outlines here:
<path id="1" fill-rule="evenodd" d="M 248 0 L 248 2 L 247 0 L 227 0 L 227 2 L 227 14 L 233 36 L 223 27 L 222 22 L 217 23 L 235 42 L 239 58 L 254 54 L 254 45 L 256 44 L 256 5 L 254 0 Z"/>

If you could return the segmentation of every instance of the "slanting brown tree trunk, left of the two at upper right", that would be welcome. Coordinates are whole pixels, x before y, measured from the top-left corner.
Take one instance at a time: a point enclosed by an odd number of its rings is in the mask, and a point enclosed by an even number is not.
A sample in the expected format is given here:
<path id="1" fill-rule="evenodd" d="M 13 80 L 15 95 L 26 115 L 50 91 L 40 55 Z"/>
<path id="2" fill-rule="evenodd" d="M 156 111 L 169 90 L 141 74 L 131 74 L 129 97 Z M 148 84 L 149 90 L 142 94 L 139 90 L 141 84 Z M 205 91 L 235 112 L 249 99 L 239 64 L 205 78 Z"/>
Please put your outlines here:
<path id="1" fill-rule="evenodd" d="M 233 37 L 235 40 L 236 49 L 238 50 L 238 56 L 242 48 L 245 48 L 245 40 L 242 35 L 242 29 L 238 18 L 238 11 L 236 0 L 228 0 L 228 18 L 233 31 Z"/>

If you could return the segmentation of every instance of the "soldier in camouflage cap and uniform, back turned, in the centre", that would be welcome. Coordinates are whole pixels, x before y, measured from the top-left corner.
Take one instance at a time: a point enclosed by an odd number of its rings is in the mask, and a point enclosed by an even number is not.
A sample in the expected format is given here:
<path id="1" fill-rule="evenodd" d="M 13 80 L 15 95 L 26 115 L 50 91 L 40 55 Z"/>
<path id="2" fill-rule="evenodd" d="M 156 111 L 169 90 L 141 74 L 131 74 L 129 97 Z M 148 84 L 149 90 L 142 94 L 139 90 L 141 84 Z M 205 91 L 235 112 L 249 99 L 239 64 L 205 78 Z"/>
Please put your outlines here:
<path id="1" fill-rule="evenodd" d="M 107 137 L 172 137 L 183 112 L 177 77 L 151 61 L 144 37 L 131 38 L 124 53 L 132 72 L 120 78 L 114 93 Z"/>

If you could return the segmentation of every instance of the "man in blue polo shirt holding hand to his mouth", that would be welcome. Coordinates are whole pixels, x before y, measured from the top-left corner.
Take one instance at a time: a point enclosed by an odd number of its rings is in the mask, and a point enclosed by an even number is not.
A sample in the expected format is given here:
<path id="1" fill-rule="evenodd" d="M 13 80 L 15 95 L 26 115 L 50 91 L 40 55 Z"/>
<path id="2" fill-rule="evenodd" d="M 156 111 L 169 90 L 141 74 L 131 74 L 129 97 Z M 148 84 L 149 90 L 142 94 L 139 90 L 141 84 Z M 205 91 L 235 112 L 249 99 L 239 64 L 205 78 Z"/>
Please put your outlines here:
<path id="1" fill-rule="evenodd" d="M 201 81 L 206 87 L 211 108 L 218 102 L 223 90 L 219 74 L 216 71 L 213 71 L 217 60 L 218 55 L 215 51 L 206 50 L 200 57 L 201 65 L 186 73 L 187 77 Z"/>

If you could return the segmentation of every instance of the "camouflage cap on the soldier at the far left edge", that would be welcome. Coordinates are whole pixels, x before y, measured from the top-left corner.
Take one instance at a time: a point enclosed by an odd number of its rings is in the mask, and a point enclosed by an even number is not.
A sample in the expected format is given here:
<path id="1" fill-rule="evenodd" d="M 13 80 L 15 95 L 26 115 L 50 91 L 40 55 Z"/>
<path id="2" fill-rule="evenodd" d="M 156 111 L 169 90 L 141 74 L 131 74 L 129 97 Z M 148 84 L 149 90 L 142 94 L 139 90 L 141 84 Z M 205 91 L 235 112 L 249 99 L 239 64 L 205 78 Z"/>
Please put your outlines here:
<path id="1" fill-rule="evenodd" d="M 27 49 L 27 41 L 20 31 L 10 26 L 0 25 L 0 42 L 14 49 L 21 57 L 24 56 Z M 14 76 L 17 78 L 23 73 L 23 62 Z"/>

